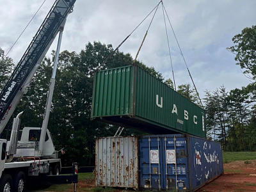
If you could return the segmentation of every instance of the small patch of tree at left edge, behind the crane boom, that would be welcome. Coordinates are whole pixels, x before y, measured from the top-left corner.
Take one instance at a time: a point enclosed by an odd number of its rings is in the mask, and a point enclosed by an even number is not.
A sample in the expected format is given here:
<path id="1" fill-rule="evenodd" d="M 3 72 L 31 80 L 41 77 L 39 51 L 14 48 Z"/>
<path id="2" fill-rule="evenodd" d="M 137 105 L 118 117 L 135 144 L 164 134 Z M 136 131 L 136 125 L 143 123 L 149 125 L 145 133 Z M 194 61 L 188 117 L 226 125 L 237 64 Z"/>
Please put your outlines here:
<path id="1" fill-rule="evenodd" d="M 13 67 L 13 60 L 9 57 L 4 57 L 4 51 L 0 47 L 0 92 L 3 90 L 6 81 L 8 81 Z"/>

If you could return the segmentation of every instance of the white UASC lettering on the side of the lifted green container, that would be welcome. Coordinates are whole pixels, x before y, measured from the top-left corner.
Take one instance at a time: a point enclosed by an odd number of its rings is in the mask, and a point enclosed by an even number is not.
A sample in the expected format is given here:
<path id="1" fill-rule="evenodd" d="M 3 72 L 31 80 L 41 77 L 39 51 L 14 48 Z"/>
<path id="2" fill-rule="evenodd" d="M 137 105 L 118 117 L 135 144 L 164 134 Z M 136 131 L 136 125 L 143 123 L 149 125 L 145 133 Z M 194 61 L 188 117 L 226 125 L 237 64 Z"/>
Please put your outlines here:
<path id="1" fill-rule="evenodd" d="M 160 97 L 160 103 L 159 103 L 159 95 L 156 95 L 156 106 L 159 108 L 163 108 L 163 97 Z M 178 108 L 177 108 L 176 104 L 173 104 L 173 108 L 172 108 L 172 114 L 174 114 L 174 113 L 178 116 Z M 197 116 L 196 115 L 192 115 L 192 116 L 193 116 L 194 124 L 197 125 Z M 204 118 L 204 114 L 203 114 L 202 118 Z M 184 120 L 189 120 L 189 113 L 187 110 L 184 110 Z M 180 120 L 179 118 L 177 118 L 177 122 L 179 124 L 184 124 L 184 121 Z M 202 124 L 203 124 L 202 127 L 204 129 L 204 119 L 202 121 Z"/>

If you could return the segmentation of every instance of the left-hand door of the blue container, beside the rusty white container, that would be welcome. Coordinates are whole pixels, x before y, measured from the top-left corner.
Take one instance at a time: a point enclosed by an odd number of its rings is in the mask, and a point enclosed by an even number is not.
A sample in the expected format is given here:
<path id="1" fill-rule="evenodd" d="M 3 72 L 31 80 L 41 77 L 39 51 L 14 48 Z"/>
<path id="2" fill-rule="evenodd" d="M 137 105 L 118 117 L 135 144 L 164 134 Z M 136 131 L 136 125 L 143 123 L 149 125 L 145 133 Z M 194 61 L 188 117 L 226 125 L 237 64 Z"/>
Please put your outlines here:
<path id="1" fill-rule="evenodd" d="M 140 187 L 163 189 L 163 149 L 161 138 L 140 139 Z"/>

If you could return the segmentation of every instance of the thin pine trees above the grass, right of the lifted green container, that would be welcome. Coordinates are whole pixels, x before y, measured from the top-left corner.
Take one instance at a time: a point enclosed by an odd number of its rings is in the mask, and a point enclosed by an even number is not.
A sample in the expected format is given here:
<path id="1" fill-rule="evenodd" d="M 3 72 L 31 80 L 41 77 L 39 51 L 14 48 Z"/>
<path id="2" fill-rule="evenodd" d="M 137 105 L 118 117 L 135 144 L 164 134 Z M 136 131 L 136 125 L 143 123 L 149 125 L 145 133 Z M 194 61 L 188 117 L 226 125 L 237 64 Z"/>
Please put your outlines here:
<path id="1" fill-rule="evenodd" d="M 207 135 L 221 142 L 224 150 L 256 150 L 255 114 L 248 93 L 230 92 L 221 86 L 205 95 Z"/>

